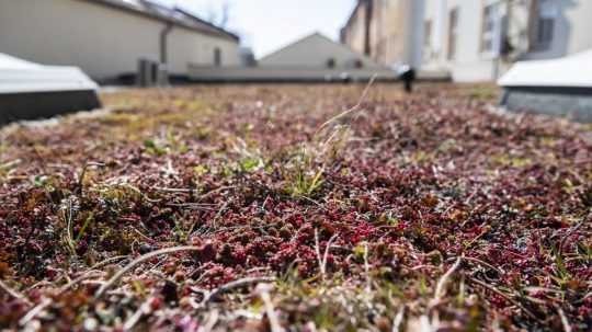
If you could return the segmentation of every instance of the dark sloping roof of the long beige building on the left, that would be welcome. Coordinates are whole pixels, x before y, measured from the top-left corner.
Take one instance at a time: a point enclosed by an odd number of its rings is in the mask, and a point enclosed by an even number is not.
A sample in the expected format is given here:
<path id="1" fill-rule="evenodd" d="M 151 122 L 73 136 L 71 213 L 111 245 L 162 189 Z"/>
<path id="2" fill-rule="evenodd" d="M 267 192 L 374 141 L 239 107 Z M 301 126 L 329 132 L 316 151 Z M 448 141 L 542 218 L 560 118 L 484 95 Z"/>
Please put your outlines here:
<path id="1" fill-rule="evenodd" d="M 196 15 L 180 9 L 168 8 L 149 0 L 80 0 L 90 3 L 105 5 L 112 9 L 126 11 L 149 19 L 158 20 L 164 23 L 171 23 L 177 26 L 185 27 L 198 33 L 208 34 L 221 38 L 239 41 L 239 37 L 219 26 L 206 22 Z"/>

